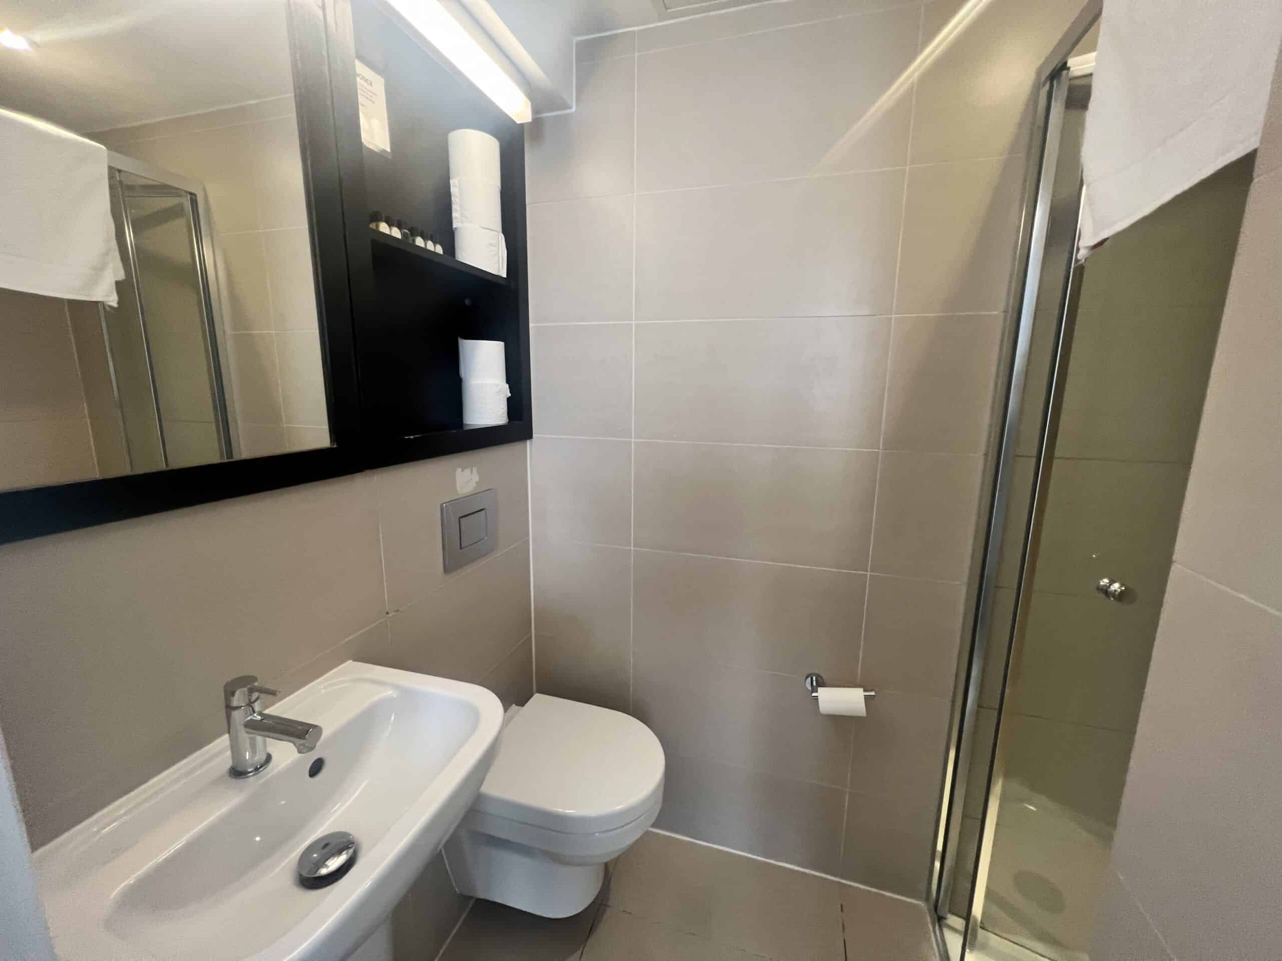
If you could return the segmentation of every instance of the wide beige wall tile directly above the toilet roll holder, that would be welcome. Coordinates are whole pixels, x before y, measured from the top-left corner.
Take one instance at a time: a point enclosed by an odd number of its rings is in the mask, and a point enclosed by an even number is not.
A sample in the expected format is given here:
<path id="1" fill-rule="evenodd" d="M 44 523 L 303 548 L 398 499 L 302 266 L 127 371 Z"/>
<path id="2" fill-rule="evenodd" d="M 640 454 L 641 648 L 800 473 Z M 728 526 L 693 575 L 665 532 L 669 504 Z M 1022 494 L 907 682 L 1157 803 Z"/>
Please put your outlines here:
<path id="1" fill-rule="evenodd" d="M 732 664 L 781 674 L 859 673 L 864 575 L 637 551 L 635 645 L 692 670 Z"/>

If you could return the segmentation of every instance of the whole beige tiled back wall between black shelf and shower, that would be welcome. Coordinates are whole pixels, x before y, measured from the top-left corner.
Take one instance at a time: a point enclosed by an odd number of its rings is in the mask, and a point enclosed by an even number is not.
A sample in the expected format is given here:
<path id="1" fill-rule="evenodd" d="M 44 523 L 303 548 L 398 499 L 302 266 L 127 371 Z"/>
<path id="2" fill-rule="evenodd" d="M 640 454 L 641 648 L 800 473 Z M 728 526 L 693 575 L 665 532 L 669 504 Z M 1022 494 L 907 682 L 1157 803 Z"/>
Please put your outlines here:
<path id="1" fill-rule="evenodd" d="M 538 689 L 654 728 L 659 826 L 913 896 L 1026 99 L 1079 9 L 992 0 L 918 62 L 959 6 L 581 41 L 576 111 L 527 133 Z"/>

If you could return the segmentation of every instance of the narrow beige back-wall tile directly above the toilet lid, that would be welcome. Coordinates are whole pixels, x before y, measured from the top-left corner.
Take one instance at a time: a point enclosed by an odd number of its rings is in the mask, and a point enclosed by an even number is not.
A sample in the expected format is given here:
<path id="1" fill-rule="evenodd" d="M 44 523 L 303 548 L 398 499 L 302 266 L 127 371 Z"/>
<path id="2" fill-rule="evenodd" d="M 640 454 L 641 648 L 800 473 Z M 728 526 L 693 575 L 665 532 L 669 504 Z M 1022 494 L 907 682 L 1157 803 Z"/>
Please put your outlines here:
<path id="1" fill-rule="evenodd" d="M 632 696 L 632 552 L 535 545 L 540 693 L 627 711 Z"/>

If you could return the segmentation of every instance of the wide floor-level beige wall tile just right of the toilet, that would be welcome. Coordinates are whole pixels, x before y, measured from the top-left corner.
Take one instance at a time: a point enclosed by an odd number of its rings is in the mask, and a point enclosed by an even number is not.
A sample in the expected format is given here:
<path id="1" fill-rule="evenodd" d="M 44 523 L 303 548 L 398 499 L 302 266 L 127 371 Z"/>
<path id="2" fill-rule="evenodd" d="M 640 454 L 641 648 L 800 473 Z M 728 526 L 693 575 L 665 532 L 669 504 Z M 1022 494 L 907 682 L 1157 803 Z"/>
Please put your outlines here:
<path id="1" fill-rule="evenodd" d="M 835 875 L 845 811 L 841 788 L 668 751 L 655 826 Z"/>

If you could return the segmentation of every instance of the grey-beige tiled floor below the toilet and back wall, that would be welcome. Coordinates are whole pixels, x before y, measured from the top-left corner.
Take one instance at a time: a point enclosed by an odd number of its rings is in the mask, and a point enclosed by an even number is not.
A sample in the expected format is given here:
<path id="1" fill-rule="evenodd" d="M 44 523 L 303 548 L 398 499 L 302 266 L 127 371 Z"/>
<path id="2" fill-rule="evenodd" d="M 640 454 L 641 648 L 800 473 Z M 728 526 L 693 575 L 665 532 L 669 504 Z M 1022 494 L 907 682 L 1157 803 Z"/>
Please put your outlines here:
<path id="1" fill-rule="evenodd" d="M 441 961 L 936 961 L 926 907 L 649 832 L 599 902 L 547 920 L 477 901 Z"/>

